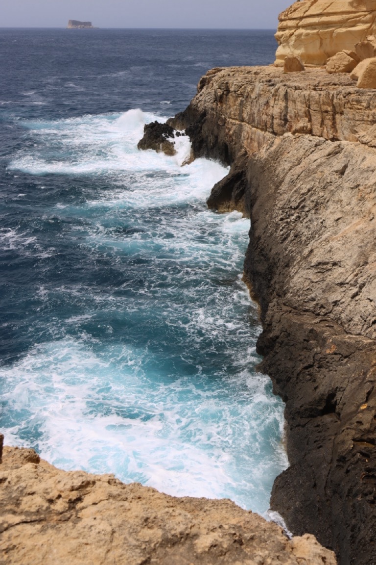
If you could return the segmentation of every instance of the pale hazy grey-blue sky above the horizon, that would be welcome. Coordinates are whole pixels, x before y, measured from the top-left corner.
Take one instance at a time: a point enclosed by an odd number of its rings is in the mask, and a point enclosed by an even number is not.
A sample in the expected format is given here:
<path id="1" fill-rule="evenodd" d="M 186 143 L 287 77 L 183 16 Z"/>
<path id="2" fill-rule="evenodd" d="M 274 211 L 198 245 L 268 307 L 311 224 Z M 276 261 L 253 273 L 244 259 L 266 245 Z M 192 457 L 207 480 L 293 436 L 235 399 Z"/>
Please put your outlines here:
<path id="1" fill-rule="evenodd" d="M 268 28 L 293 0 L 0 0 L 0 27 Z"/>

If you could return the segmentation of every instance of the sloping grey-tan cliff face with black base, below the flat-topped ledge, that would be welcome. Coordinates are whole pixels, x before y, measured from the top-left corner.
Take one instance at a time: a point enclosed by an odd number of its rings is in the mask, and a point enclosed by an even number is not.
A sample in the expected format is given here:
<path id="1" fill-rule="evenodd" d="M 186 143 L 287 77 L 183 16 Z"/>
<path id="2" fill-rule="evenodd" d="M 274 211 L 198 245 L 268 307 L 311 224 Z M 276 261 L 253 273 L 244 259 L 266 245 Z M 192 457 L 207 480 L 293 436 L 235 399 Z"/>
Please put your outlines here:
<path id="1" fill-rule="evenodd" d="M 276 166 L 276 163 L 278 164 Z M 249 162 L 245 279 L 286 402 L 272 507 L 340 563 L 376 559 L 376 152 L 287 134 Z M 288 376 L 288 377 L 287 377 Z"/>

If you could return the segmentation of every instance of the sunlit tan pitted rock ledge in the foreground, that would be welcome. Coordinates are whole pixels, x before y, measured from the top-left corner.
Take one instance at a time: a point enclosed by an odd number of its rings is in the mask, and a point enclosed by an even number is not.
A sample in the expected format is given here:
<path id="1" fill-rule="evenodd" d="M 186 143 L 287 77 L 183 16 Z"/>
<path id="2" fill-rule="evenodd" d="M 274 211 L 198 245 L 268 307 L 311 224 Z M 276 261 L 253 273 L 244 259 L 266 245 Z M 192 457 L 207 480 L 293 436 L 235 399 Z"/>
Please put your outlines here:
<path id="1" fill-rule="evenodd" d="M 229 500 L 60 471 L 31 449 L 5 447 L 0 507 L 4 565 L 335 565 L 313 536 L 290 541 Z"/>

